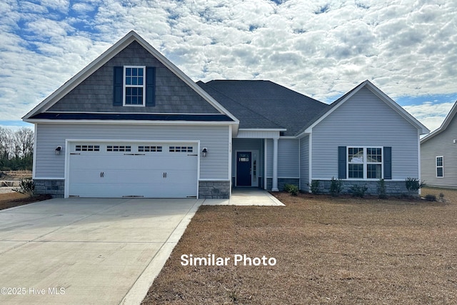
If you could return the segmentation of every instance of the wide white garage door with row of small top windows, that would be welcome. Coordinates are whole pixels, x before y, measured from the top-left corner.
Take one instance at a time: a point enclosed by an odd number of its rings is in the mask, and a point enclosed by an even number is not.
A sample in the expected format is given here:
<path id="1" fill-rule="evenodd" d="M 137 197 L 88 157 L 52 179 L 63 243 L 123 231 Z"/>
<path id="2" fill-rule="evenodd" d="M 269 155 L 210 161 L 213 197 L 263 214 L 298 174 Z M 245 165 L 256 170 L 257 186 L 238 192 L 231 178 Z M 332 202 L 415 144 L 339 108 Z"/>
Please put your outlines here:
<path id="1" fill-rule="evenodd" d="M 197 196 L 196 143 L 71 142 L 69 196 Z"/>

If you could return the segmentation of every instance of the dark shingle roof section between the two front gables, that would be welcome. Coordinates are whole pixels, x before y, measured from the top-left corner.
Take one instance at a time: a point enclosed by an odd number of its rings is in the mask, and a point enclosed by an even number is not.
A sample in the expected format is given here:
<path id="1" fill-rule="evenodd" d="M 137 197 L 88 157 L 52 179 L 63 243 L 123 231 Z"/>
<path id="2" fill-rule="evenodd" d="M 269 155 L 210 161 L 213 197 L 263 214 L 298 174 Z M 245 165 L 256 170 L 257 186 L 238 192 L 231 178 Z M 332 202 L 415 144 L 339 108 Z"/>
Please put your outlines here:
<path id="1" fill-rule="evenodd" d="M 209 81 L 197 83 L 240 120 L 240 128 L 287 129 L 295 136 L 328 108 L 316 99 L 272 81 Z"/>

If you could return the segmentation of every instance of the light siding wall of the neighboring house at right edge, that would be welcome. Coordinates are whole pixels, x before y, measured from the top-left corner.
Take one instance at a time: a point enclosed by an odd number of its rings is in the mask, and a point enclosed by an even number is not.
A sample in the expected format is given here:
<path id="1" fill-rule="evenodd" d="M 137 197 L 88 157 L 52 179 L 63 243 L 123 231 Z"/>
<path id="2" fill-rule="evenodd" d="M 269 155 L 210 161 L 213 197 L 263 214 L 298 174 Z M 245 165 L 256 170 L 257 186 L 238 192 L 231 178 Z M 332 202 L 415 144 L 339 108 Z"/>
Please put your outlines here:
<path id="1" fill-rule="evenodd" d="M 446 130 L 421 144 L 421 177 L 429 186 L 457 188 L 456 116 Z M 436 157 L 443 156 L 443 177 L 436 177 Z"/>

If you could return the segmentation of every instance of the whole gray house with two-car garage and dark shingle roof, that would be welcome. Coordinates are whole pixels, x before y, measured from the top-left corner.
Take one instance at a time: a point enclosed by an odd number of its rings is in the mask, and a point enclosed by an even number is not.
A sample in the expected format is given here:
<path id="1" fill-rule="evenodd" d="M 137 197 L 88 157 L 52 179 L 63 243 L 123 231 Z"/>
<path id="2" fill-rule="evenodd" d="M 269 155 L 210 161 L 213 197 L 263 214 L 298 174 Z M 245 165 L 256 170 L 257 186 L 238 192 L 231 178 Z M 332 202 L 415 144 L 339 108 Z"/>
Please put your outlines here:
<path id="1" fill-rule="evenodd" d="M 271 81 L 195 83 L 134 31 L 31 110 L 36 191 L 227 198 L 332 177 L 390 193 L 428 129 L 364 81 L 323 104 Z"/>

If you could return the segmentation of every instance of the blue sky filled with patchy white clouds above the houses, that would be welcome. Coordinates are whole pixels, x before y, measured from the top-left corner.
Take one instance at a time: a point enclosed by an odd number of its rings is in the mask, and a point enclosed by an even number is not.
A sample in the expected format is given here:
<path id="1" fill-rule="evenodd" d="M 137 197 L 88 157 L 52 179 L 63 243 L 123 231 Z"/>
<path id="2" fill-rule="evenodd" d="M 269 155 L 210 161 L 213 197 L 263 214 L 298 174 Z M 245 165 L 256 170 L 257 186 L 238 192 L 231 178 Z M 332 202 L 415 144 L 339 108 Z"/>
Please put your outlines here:
<path id="1" fill-rule="evenodd" d="M 268 79 L 331 103 L 369 79 L 431 130 L 457 100 L 456 1 L 2 0 L 0 125 L 23 126 L 131 30 L 194 81 Z"/>

